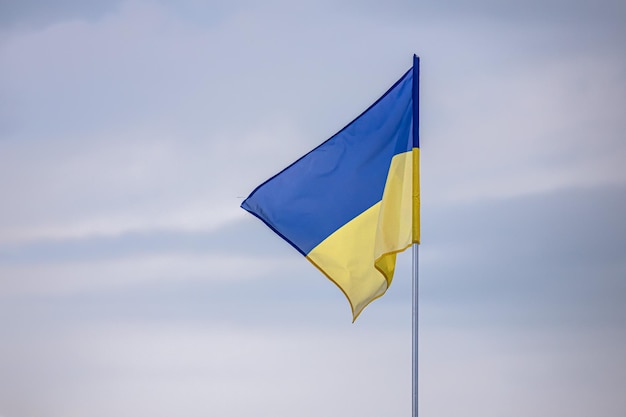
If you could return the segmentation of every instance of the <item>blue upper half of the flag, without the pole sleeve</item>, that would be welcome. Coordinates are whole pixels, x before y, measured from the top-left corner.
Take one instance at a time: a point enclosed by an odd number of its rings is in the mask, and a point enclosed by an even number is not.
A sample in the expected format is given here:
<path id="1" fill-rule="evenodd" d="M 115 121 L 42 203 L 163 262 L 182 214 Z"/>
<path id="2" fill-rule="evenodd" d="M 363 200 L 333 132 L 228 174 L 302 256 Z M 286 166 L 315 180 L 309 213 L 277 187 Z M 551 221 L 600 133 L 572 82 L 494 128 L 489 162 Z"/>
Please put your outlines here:
<path id="1" fill-rule="evenodd" d="M 413 88 L 409 70 L 369 109 L 257 187 L 241 206 L 308 254 L 382 199 L 392 157 L 413 146 Z"/>

